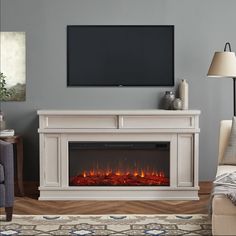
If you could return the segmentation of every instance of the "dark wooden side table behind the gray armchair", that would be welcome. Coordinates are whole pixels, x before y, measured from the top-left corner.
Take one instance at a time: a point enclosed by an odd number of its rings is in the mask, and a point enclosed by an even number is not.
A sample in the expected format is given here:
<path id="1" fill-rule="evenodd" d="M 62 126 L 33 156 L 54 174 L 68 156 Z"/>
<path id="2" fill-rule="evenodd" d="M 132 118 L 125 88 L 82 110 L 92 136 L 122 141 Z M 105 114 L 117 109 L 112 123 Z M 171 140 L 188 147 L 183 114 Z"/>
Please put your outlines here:
<path id="1" fill-rule="evenodd" d="M 0 137 L 1 140 L 16 145 L 17 183 L 20 196 L 24 196 L 23 187 L 23 140 L 19 135 Z"/>

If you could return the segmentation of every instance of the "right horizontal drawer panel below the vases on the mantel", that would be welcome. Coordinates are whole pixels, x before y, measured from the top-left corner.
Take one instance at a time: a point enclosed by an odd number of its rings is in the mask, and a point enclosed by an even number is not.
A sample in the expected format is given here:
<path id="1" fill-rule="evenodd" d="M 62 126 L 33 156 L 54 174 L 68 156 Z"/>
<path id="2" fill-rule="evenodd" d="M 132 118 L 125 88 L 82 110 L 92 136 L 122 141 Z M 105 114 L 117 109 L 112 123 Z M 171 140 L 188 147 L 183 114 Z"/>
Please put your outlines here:
<path id="1" fill-rule="evenodd" d="M 193 116 L 122 116 L 120 128 L 194 128 Z"/>

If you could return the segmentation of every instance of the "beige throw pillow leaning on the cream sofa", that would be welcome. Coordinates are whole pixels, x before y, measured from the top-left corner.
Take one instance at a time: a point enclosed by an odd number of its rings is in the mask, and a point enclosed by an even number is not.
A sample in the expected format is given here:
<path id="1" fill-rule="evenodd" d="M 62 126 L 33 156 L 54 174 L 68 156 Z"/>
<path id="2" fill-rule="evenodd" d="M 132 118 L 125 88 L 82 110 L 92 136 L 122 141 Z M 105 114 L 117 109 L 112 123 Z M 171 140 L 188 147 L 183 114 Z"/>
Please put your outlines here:
<path id="1" fill-rule="evenodd" d="M 236 165 L 236 117 L 233 117 L 232 119 L 232 128 L 229 136 L 228 146 L 225 149 L 221 164 Z"/>

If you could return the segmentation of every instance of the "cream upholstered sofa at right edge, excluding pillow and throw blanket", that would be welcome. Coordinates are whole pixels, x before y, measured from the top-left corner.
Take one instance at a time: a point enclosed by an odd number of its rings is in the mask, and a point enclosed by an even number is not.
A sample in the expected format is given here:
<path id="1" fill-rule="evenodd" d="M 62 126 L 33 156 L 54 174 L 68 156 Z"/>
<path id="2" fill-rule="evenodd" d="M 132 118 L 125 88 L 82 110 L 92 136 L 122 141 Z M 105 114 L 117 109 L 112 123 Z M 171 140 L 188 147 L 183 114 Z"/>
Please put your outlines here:
<path id="1" fill-rule="evenodd" d="M 231 120 L 223 120 L 220 124 L 217 176 L 236 171 L 236 166 L 220 165 L 230 136 L 231 125 Z M 236 235 L 236 206 L 224 195 L 215 195 L 212 200 L 212 233 L 213 235 Z"/>

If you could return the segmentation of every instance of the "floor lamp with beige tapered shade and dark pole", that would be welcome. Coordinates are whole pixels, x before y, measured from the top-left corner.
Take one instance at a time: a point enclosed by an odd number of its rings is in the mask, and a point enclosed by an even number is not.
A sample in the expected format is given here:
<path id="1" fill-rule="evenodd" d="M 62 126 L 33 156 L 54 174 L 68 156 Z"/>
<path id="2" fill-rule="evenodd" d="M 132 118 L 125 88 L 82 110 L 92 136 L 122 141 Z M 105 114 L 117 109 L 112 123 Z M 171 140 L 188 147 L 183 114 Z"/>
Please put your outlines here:
<path id="1" fill-rule="evenodd" d="M 229 51 L 227 51 L 227 47 Z M 235 107 L 235 86 L 236 86 L 236 56 L 231 52 L 230 43 L 225 44 L 224 52 L 215 52 L 210 68 L 207 73 L 208 77 L 225 77 L 233 79 L 233 93 L 234 93 L 234 116 L 236 116 Z"/>

